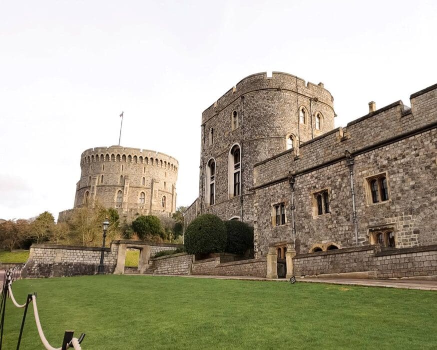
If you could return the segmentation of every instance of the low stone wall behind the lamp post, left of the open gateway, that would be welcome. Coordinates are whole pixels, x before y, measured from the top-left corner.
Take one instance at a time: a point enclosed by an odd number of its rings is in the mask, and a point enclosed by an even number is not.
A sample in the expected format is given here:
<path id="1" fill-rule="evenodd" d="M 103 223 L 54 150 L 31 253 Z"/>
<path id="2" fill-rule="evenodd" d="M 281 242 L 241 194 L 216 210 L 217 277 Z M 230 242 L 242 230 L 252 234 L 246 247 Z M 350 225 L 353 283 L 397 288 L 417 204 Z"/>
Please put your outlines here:
<path id="1" fill-rule="evenodd" d="M 24 278 L 95 274 L 98 272 L 100 253 L 101 248 L 97 247 L 32 244 L 21 274 Z M 113 273 L 117 253 L 117 244 L 104 248 L 105 273 Z"/>

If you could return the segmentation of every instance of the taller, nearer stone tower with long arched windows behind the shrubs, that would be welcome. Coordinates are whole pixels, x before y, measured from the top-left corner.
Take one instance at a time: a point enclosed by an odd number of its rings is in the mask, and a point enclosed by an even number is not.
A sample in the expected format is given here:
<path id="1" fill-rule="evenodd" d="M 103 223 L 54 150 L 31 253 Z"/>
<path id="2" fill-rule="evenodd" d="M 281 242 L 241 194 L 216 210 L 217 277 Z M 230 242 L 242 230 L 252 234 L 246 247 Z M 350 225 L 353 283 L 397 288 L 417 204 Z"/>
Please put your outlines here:
<path id="1" fill-rule="evenodd" d="M 322 83 L 273 72 L 245 77 L 202 113 L 197 214 L 252 223 L 254 165 L 334 128 Z M 321 149 L 321 152 L 326 150 Z"/>

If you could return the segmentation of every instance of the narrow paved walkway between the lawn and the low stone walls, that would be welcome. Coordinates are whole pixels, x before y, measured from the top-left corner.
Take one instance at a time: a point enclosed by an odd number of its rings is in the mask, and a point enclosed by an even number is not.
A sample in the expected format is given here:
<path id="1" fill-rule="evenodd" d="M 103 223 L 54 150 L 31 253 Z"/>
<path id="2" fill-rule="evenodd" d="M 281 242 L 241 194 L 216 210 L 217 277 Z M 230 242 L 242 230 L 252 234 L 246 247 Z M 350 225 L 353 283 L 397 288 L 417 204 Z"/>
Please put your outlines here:
<path id="1" fill-rule="evenodd" d="M 288 279 L 268 279 L 261 277 L 250 276 L 209 276 L 209 275 L 172 275 L 177 277 L 190 278 L 216 278 L 216 279 L 240 279 L 240 280 L 256 280 L 269 282 L 288 282 Z M 405 288 L 405 289 L 421 289 L 421 290 L 436 290 L 437 280 L 422 280 L 422 279 L 358 279 L 358 278 L 296 278 L 297 282 L 307 283 L 330 283 L 330 284 L 346 284 L 346 285 L 363 285 L 375 287 L 390 287 L 390 288 Z"/>

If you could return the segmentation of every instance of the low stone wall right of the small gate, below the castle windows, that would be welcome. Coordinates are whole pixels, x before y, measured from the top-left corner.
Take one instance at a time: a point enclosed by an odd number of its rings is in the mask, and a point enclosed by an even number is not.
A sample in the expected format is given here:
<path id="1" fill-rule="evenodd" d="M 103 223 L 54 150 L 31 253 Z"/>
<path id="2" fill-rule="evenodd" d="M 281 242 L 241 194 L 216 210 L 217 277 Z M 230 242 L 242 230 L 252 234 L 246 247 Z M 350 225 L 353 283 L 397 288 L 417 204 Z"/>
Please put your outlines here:
<path id="1" fill-rule="evenodd" d="M 381 250 L 379 245 L 297 254 L 296 276 L 370 272 L 374 278 L 437 275 L 437 245 Z"/>

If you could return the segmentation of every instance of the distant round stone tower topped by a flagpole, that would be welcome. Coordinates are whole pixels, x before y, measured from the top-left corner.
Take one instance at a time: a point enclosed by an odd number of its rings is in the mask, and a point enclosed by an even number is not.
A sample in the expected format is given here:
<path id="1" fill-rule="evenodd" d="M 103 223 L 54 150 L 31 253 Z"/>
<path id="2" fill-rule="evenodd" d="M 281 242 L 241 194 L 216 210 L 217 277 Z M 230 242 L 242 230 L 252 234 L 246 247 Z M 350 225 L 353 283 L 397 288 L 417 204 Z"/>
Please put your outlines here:
<path id="1" fill-rule="evenodd" d="M 153 150 L 122 146 L 96 147 L 80 157 L 80 180 L 74 208 L 114 207 L 129 218 L 136 214 L 168 214 L 176 210 L 178 161 Z M 62 220 L 68 210 L 59 213 Z"/>

